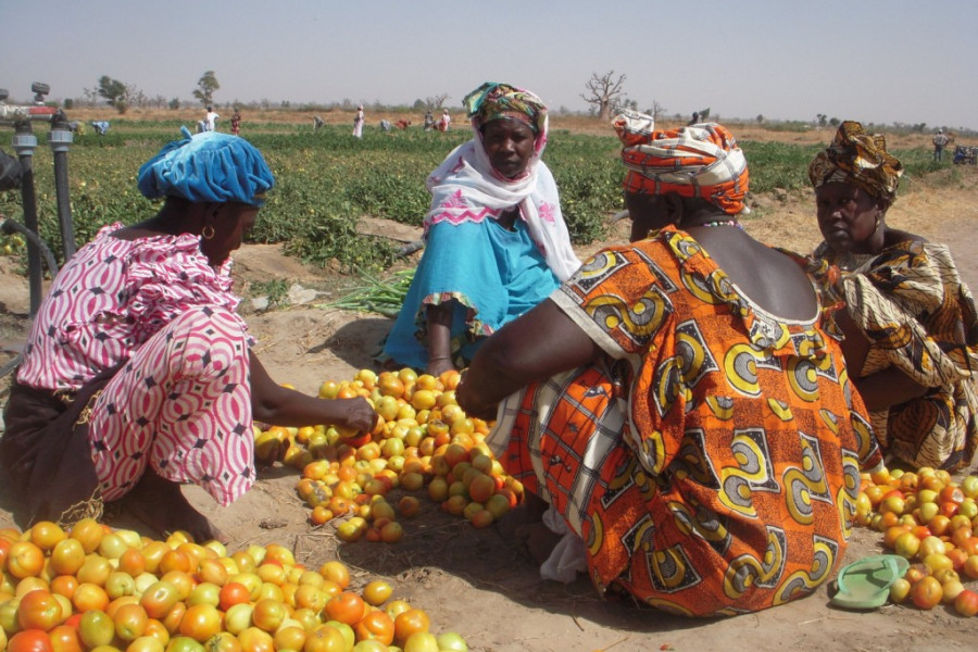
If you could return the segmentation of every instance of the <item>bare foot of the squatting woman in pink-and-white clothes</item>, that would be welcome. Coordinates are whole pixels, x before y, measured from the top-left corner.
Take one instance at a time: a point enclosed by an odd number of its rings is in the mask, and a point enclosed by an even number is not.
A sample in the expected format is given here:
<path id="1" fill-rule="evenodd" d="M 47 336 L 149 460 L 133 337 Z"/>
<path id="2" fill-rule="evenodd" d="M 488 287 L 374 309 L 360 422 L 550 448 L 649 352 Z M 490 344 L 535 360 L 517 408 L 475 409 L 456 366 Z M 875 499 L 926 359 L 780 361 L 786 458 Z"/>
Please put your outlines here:
<path id="1" fill-rule="evenodd" d="M 163 536 L 184 530 L 198 543 L 212 539 L 228 542 L 228 537 L 187 501 L 178 484 L 160 477 L 152 468 L 146 469 L 120 504 Z"/>

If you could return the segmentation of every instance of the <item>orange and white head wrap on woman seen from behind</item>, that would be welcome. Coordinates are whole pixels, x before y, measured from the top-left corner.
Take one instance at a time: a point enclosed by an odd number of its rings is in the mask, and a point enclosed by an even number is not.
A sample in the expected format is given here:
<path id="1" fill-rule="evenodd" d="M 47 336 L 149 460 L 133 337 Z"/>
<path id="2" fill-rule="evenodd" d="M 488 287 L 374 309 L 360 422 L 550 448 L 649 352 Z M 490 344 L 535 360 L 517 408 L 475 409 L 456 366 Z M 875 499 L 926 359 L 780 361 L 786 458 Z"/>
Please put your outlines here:
<path id="1" fill-rule="evenodd" d="M 636 111 L 624 111 L 612 124 L 624 146 L 626 191 L 676 192 L 705 199 L 730 215 L 744 211 L 747 159 L 723 125 L 656 131 L 652 116 Z"/>

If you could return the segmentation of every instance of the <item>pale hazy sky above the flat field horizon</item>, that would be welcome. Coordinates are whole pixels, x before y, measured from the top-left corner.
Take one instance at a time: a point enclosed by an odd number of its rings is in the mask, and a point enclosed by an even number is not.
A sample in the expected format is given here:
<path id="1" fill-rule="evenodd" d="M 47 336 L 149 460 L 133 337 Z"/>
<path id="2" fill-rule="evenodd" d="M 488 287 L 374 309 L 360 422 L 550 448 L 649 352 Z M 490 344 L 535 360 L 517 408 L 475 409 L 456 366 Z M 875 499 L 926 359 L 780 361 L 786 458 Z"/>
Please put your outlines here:
<path id="1" fill-rule="evenodd" d="M 974 0 L 0 0 L 0 88 L 63 101 L 108 75 L 192 105 L 213 71 L 218 104 L 461 110 L 491 80 L 587 111 L 613 72 L 669 116 L 976 129 L 976 26 Z"/>

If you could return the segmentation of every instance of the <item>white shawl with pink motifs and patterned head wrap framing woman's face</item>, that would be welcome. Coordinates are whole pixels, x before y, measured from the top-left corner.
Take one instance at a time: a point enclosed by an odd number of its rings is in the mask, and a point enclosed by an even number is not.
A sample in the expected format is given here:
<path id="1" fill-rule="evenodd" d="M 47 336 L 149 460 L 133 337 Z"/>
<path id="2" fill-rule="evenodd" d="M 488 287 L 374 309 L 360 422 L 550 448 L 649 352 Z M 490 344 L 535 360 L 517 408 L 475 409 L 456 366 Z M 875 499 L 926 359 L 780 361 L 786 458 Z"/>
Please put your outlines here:
<path id="1" fill-rule="evenodd" d="M 556 183 L 540 160 L 547 145 L 547 106 L 529 91 L 492 83 L 466 96 L 463 103 L 468 108 L 474 137 L 452 150 L 428 175 L 425 186 L 431 192 L 431 209 L 425 215 L 425 234 L 440 222 L 457 225 L 497 220 L 518 205 L 548 266 L 561 281 L 566 280 L 580 267 L 580 261 L 570 246 Z M 489 120 L 513 117 L 517 112 L 523 113 L 537 137 L 526 171 L 507 179 L 489 162 L 480 127 Z"/>

